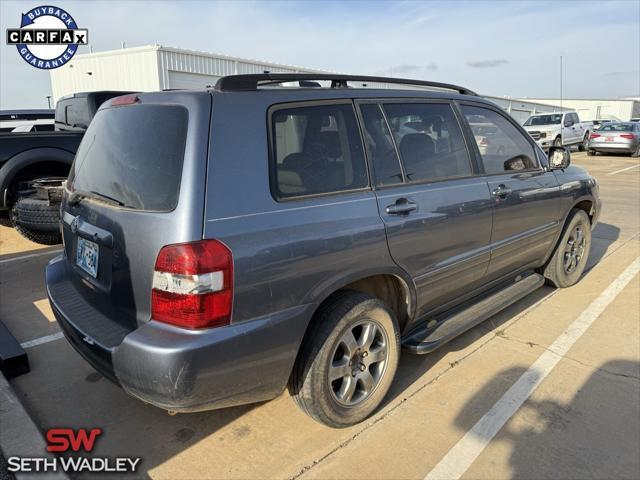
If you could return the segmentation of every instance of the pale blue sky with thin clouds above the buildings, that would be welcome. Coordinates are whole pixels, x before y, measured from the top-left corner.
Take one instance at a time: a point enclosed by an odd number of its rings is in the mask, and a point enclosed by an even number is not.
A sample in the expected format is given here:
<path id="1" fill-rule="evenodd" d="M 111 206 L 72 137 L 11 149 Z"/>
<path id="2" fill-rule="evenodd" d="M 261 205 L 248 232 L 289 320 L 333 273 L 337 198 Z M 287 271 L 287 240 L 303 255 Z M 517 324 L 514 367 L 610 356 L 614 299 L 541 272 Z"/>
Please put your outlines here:
<path id="1" fill-rule="evenodd" d="M 94 51 L 157 43 L 522 97 L 559 95 L 562 55 L 565 97 L 640 95 L 640 0 L 53 4 L 89 29 Z M 38 5 L 2 0 L 2 31 Z M 48 72 L 3 41 L 0 108 L 46 106 L 50 92 Z"/>

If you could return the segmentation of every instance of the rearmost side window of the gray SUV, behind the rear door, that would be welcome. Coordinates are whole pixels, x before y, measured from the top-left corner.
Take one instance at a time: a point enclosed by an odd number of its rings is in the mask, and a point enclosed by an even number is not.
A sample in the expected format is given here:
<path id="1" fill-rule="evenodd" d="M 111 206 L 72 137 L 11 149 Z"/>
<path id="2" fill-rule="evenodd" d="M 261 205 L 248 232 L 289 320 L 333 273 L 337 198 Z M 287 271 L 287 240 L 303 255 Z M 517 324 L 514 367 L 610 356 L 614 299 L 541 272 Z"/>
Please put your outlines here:
<path id="1" fill-rule="evenodd" d="M 285 108 L 275 111 L 271 122 L 278 197 L 353 190 L 369 184 L 352 105 Z"/>

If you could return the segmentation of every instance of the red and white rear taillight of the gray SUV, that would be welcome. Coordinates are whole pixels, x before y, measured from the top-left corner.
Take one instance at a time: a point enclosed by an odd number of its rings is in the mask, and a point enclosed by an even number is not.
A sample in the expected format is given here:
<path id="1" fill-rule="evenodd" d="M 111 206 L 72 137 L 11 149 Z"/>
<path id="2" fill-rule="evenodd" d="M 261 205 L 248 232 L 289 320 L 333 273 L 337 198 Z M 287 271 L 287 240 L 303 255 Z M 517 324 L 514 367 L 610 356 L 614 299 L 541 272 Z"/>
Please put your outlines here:
<path id="1" fill-rule="evenodd" d="M 156 259 L 151 318 L 184 328 L 231 322 L 233 256 L 218 240 L 162 247 Z"/>

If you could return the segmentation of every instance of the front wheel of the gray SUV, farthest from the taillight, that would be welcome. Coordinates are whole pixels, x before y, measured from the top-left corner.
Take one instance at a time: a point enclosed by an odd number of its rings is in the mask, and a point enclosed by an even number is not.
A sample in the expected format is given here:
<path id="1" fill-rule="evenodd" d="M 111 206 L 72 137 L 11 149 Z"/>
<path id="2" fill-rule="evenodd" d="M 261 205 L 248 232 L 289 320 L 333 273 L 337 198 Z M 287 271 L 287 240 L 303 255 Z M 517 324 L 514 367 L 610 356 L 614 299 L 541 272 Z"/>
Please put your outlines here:
<path id="1" fill-rule="evenodd" d="M 591 220 L 584 210 L 573 209 L 560 241 L 544 267 L 543 275 L 547 283 L 557 288 L 575 285 L 587 265 L 590 249 Z"/>

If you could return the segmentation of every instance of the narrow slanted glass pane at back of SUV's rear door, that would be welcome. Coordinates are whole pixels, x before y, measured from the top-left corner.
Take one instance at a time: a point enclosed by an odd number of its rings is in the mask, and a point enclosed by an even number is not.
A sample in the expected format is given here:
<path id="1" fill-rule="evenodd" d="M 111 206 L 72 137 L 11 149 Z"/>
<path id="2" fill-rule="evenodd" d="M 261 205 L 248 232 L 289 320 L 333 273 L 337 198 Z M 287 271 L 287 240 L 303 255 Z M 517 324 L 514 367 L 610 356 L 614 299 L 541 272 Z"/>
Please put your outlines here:
<path id="1" fill-rule="evenodd" d="M 377 186 L 402 183 L 402 170 L 391 132 L 378 105 L 360 105 L 367 152 L 373 164 Z"/>

